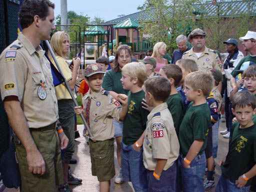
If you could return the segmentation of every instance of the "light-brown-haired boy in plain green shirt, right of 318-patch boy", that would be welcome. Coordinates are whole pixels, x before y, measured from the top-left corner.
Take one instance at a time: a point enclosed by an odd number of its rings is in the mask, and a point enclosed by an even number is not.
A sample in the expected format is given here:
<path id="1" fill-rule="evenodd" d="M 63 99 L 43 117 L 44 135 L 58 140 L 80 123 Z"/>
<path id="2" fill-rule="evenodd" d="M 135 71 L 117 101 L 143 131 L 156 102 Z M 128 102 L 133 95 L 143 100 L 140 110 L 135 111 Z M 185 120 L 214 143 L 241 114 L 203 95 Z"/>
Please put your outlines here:
<path id="1" fill-rule="evenodd" d="M 206 167 L 204 149 L 210 127 L 210 111 L 205 96 L 213 85 L 211 74 L 195 71 L 185 77 L 184 93 L 189 103 L 179 126 L 178 184 L 183 191 L 204 191 L 203 175 Z"/>

